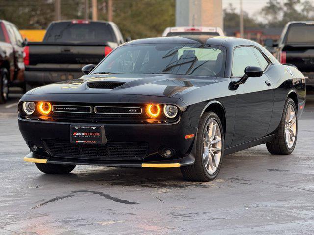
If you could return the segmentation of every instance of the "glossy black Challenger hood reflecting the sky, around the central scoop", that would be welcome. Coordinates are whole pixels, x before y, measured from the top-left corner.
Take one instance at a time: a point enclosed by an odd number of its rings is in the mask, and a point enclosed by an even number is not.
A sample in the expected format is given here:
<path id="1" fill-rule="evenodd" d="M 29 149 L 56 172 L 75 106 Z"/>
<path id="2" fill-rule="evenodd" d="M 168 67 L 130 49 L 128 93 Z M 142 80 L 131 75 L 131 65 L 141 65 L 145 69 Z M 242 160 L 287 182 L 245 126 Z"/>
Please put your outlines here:
<path id="1" fill-rule="evenodd" d="M 94 74 L 35 88 L 27 94 L 135 94 L 174 97 L 215 83 L 216 77 L 157 74 Z M 90 88 L 91 82 L 121 82 L 113 89 Z"/>

